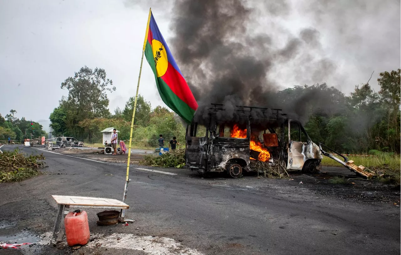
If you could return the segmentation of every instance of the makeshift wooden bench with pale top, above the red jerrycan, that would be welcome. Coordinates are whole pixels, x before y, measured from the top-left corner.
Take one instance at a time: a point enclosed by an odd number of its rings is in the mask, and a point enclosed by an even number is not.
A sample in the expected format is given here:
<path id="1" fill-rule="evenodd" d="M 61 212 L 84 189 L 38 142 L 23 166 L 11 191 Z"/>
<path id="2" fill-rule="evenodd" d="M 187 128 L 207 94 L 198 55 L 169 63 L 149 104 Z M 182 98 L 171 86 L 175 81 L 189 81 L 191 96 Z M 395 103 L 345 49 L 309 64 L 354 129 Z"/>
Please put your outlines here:
<path id="1" fill-rule="evenodd" d="M 103 208 L 103 209 L 129 209 L 130 206 L 117 199 L 101 197 L 74 197 L 52 195 L 59 205 L 56 223 L 53 229 L 53 236 L 57 242 L 61 242 L 64 237 L 64 217 L 69 213 L 70 208 Z"/>

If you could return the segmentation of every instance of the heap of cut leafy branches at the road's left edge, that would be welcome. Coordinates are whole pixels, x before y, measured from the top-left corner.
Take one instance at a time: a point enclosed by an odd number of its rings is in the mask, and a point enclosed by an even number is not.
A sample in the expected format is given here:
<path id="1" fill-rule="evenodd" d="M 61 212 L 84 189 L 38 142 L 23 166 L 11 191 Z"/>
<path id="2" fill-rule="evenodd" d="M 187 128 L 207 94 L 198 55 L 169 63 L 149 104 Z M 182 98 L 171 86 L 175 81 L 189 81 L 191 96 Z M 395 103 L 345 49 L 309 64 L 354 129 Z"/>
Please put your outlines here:
<path id="1" fill-rule="evenodd" d="M 45 157 L 26 156 L 22 152 L 4 151 L 0 154 L 0 183 L 15 182 L 39 175 L 39 168 L 45 167 Z"/>

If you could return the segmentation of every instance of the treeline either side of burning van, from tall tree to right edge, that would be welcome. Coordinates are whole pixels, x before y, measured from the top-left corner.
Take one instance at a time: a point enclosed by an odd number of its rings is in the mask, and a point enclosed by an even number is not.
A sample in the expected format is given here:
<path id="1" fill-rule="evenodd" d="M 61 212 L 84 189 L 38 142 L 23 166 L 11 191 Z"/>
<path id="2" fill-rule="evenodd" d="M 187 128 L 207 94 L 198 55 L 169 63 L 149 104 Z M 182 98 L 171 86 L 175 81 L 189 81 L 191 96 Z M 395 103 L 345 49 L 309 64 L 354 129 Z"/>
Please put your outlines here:
<path id="1" fill-rule="evenodd" d="M 346 95 L 323 83 L 287 88 L 276 92 L 275 97 L 283 103 L 309 98 L 302 106 L 306 111 L 302 121 L 315 143 L 322 142 L 344 153 L 372 150 L 398 153 L 401 151 L 401 69 L 381 72 L 377 81 L 378 91 L 367 82 L 355 86 Z M 61 98 L 50 115 L 53 136 L 73 136 L 96 143 L 101 141 L 99 131 L 114 126 L 120 131 L 119 139 L 129 139 L 134 97 L 129 98 L 124 109 L 117 108 L 111 113 L 107 92 L 113 92 L 115 87 L 105 70 L 85 66 L 67 78 L 61 88 L 69 94 Z M 133 139 L 155 140 L 159 134 L 166 139 L 176 136 L 184 141 L 185 128 L 176 114 L 161 106 L 152 108 L 139 95 Z M 156 141 L 148 145 L 156 146 Z"/>

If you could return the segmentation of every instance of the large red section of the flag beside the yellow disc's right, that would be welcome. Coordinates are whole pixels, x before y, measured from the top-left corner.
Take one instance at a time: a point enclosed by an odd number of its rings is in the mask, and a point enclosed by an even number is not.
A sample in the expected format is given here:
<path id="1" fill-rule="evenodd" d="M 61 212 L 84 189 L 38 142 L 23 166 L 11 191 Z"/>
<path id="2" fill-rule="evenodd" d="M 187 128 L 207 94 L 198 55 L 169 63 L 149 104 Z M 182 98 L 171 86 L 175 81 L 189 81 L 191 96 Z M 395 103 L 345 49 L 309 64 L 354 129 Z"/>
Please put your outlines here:
<path id="1" fill-rule="evenodd" d="M 188 104 L 190 108 L 193 110 L 198 108 L 198 103 L 196 103 L 196 100 L 185 79 L 179 72 L 177 72 L 177 70 L 175 70 L 170 62 L 168 63 L 166 73 L 160 78 L 162 78 L 170 87 L 172 92 L 176 94 L 183 102 Z"/>

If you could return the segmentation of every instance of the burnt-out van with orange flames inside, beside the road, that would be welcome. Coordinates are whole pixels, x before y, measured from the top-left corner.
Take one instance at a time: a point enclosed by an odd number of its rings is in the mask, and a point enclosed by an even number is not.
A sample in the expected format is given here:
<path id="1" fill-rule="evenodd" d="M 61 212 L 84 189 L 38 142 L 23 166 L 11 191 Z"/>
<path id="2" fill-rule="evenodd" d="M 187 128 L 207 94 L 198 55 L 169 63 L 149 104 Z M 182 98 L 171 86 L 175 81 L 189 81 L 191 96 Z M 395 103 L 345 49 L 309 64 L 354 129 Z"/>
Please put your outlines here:
<path id="1" fill-rule="evenodd" d="M 212 105 L 209 120 L 194 120 L 186 128 L 188 169 L 201 174 L 227 172 L 237 178 L 243 171 L 255 171 L 250 161 L 259 160 L 279 163 L 287 170 L 320 171 L 320 147 L 299 121 L 288 118 L 280 109 L 236 106 L 235 118 L 222 120 L 225 108 L 222 104 Z"/>

